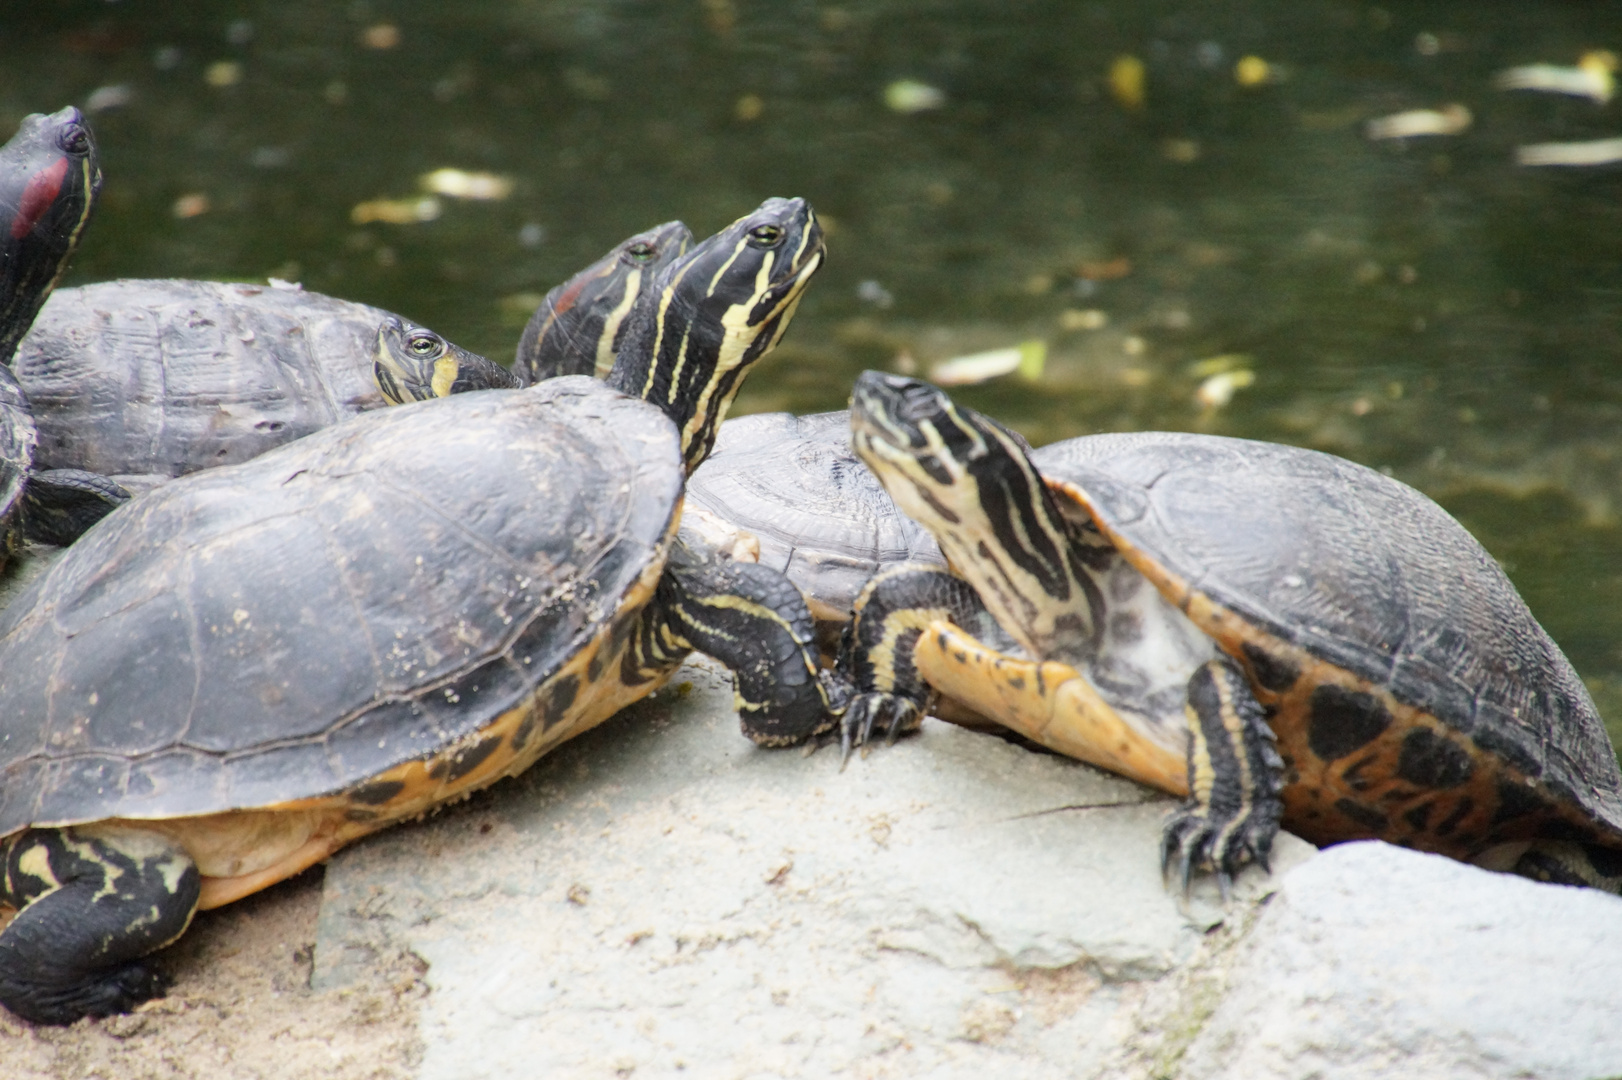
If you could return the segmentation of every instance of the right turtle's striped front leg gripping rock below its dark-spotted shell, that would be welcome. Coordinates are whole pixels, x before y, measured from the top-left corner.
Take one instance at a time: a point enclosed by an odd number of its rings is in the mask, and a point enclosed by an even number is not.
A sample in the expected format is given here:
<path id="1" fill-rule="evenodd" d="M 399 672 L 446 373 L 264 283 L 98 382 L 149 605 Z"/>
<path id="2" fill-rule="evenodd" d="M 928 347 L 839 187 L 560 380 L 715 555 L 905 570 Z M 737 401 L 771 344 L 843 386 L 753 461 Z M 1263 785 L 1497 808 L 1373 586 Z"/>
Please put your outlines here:
<path id="1" fill-rule="evenodd" d="M 1186 712 L 1189 801 L 1166 821 L 1160 864 L 1168 877 L 1176 866 L 1184 892 L 1194 868 L 1210 864 L 1226 900 L 1246 863 L 1267 869 L 1283 814 L 1285 761 L 1244 671 L 1226 657 L 1189 678 Z"/>

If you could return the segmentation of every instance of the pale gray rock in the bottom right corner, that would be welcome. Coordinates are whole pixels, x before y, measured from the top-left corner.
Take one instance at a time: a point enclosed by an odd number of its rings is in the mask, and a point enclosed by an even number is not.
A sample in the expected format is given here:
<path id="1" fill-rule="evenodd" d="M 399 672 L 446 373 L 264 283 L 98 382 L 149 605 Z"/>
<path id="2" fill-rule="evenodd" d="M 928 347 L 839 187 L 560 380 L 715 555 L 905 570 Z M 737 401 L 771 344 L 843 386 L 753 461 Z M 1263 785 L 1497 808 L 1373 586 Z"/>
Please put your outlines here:
<path id="1" fill-rule="evenodd" d="M 1283 879 L 1182 1080 L 1622 1075 L 1622 900 L 1382 843 Z"/>

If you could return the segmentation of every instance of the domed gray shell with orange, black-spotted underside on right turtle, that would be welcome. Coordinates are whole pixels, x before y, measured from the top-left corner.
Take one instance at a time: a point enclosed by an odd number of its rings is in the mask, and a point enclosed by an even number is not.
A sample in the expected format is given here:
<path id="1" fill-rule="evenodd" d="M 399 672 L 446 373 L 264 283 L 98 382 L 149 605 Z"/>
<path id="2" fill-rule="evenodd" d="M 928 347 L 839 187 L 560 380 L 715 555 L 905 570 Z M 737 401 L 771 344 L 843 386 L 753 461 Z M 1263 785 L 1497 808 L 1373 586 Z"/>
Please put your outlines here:
<path id="1" fill-rule="evenodd" d="M 1622 774 L 1581 679 L 1424 495 L 1328 454 L 1208 435 L 1093 435 L 1032 459 L 1272 696 L 1296 728 L 1280 733 L 1291 767 L 1312 761 L 1348 793 L 1324 814 L 1372 834 L 1408 806 L 1411 825 L 1445 832 L 1426 793 L 1491 774 L 1494 790 L 1455 798 L 1460 834 L 1591 838 L 1549 824 L 1575 817 L 1622 838 Z M 1294 811 L 1311 838 L 1320 811 Z"/>

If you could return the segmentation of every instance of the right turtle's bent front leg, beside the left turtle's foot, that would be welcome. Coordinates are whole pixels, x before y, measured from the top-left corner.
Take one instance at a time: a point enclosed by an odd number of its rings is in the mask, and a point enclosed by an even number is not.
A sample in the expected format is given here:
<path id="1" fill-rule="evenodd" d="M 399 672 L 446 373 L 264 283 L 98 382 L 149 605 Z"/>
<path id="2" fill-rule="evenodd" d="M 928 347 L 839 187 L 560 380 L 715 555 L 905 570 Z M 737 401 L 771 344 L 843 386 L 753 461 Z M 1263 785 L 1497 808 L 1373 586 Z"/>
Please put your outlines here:
<path id="1" fill-rule="evenodd" d="M 931 688 L 918 673 L 918 637 L 934 623 L 968 626 L 999 644 L 1012 641 L 996 624 L 973 587 L 939 566 L 907 563 L 876 576 L 856 597 L 856 616 L 845 631 L 835 663 L 853 697 L 840 726 L 845 759 L 853 746 L 884 725 L 894 741 L 923 722 Z"/>

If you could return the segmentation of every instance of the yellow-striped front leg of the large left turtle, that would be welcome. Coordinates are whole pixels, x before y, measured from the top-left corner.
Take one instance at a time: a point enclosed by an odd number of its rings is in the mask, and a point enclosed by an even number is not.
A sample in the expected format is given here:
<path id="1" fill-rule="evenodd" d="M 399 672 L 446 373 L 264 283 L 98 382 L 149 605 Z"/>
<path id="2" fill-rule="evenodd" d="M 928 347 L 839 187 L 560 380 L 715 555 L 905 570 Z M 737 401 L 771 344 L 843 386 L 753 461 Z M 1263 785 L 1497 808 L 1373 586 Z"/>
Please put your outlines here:
<path id="1" fill-rule="evenodd" d="M 817 675 L 816 621 L 780 572 L 678 540 L 652 610 L 663 631 L 647 641 L 732 668 L 738 717 L 753 741 L 788 746 L 834 726 L 837 705 Z"/>

